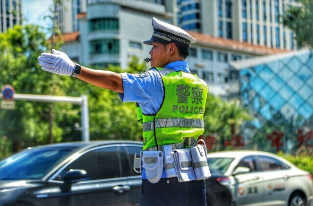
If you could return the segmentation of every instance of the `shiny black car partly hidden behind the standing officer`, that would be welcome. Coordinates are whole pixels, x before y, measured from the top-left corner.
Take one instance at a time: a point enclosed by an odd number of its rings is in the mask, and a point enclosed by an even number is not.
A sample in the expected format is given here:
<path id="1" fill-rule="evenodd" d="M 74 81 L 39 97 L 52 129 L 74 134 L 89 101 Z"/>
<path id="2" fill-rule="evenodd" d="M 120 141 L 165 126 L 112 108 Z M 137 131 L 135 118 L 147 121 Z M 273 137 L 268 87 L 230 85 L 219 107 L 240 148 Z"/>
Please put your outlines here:
<path id="1" fill-rule="evenodd" d="M 141 179 L 133 170 L 137 141 L 58 143 L 0 161 L 0 206 L 136 206 Z M 230 181 L 206 180 L 209 206 L 230 206 Z"/>

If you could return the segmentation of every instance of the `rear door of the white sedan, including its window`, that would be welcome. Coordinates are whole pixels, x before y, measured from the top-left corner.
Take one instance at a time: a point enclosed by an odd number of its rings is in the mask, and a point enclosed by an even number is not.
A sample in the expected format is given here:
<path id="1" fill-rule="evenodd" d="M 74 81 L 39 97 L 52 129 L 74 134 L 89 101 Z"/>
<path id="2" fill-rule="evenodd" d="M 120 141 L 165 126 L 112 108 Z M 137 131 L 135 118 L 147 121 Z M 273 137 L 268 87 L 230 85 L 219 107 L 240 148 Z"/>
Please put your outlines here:
<path id="1" fill-rule="evenodd" d="M 258 162 L 263 170 L 265 206 L 286 206 L 288 203 L 288 175 L 289 166 L 285 163 L 267 156 L 258 156 Z"/>

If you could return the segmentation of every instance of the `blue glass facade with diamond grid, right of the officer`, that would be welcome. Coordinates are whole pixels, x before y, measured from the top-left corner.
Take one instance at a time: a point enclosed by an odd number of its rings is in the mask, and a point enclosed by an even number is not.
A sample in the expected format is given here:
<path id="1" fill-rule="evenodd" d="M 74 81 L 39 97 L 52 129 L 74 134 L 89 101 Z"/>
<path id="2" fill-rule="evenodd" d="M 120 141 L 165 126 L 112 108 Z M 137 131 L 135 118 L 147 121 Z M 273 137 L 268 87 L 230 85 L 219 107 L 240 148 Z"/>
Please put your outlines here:
<path id="1" fill-rule="evenodd" d="M 239 70 L 240 99 L 252 121 L 243 124 L 247 147 L 268 150 L 268 135 L 284 135 L 280 149 L 294 150 L 299 131 L 313 130 L 313 55 L 298 52 Z M 262 143 L 262 144 L 261 144 Z"/>

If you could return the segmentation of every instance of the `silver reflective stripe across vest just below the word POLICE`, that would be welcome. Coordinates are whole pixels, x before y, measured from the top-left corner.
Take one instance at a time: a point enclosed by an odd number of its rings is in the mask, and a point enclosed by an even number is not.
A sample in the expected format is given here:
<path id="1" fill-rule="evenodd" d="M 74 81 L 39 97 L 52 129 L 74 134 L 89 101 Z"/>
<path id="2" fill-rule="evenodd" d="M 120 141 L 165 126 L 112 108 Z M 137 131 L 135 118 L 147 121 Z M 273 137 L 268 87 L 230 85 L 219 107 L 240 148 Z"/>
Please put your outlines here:
<path id="1" fill-rule="evenodd" d="M 204 122 L 201 119 L 185 119 L 185 118 L 165 118 L 156 119 L 156 128 L 161 127 L 189 127 L 189 128 L 203 128 Z M 144 122 L 143 131 L 154 130 L 153 122 Z"/>

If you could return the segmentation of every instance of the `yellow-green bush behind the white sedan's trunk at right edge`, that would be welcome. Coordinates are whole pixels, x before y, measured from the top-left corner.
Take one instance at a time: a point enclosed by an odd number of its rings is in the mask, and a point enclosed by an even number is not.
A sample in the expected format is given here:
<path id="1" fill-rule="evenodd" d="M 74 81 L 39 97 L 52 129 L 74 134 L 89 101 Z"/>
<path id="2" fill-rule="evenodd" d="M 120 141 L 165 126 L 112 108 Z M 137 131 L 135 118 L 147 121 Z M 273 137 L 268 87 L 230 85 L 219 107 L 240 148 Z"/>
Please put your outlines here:
<path id="1" fill-rule="evenodd" d="M 306 170 L 313 175 L 313 148 L 300 147 L 295 154 L 284 154 L 279 152 L 277 155 L 290 161 L 300 169 Z"/>

